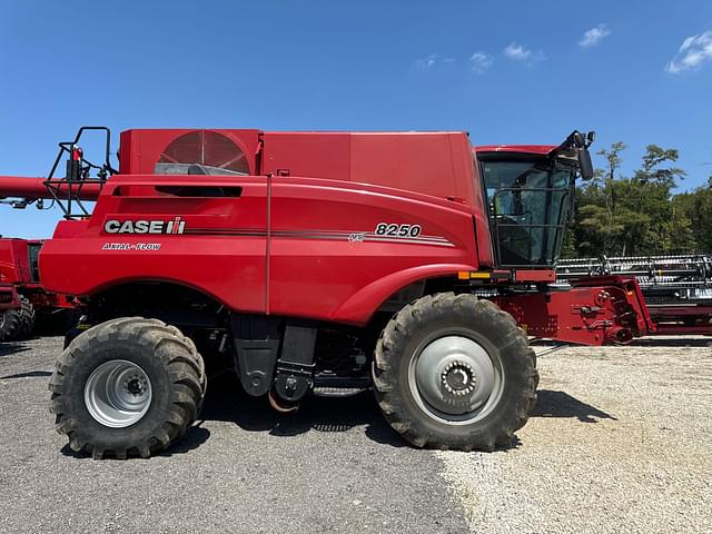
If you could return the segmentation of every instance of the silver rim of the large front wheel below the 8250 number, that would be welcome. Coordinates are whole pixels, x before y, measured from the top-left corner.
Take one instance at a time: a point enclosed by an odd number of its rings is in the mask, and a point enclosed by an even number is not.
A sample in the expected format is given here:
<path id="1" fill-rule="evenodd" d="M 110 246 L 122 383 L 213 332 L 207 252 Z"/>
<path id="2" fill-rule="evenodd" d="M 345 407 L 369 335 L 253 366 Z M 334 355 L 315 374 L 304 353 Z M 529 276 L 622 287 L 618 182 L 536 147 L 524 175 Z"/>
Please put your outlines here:
<path id="1" fill-rule="evenodd" d="M 408 368 L 411 390 L 421 409 L 448 425 L 486 417 L 504 389 L 502 363 L 494 353 L 462 332 L 423 342 Z"/>

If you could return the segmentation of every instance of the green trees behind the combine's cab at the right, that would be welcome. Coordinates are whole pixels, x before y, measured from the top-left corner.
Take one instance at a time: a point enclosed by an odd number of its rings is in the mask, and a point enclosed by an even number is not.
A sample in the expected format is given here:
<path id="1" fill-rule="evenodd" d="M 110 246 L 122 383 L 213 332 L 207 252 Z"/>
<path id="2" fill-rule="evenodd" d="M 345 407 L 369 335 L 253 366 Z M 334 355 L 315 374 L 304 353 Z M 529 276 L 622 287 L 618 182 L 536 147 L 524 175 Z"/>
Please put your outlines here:
<path id="1" fill-rule="evenodd" d="M 674 192 L 686 172 L 674 148 L 649 145 L 632 176 L 621 174 L 624 142 L 596 154 L 606 168 L 576 189 L 574 222 L 563 256 L 599 257 L 712 253 L 712 176 Z"/>

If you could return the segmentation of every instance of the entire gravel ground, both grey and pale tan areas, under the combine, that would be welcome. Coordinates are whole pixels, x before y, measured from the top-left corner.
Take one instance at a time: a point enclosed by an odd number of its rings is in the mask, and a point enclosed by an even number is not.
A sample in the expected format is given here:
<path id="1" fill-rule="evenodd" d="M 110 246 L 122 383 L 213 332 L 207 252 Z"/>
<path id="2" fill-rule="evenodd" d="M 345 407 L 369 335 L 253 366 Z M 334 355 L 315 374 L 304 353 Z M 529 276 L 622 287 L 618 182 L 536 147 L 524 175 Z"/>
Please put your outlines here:
<path id="1" fill-rule="evenodd" d="M 507 451 L 404 445 L 370 395 L 293 417 L 212 380 L 166 454 L 95 462 L 53 431 L 59 338 L 0 345 L 0 532 L 712 532 L 705 339 L 540 358 Z"/>

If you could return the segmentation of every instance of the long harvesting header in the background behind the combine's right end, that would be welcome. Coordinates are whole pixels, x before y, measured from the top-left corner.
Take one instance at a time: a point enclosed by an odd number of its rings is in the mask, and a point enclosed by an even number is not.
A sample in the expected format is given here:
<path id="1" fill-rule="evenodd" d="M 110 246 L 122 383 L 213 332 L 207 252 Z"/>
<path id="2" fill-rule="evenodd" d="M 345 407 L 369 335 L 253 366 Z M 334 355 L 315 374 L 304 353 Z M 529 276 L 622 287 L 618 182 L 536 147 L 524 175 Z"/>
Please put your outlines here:
<path id="1" fill-rule="evenodd" d="M 562 259 L 556 281 L 592 276 L 634 277 L 657 335 L 712 335 L 712 255 Z"/>

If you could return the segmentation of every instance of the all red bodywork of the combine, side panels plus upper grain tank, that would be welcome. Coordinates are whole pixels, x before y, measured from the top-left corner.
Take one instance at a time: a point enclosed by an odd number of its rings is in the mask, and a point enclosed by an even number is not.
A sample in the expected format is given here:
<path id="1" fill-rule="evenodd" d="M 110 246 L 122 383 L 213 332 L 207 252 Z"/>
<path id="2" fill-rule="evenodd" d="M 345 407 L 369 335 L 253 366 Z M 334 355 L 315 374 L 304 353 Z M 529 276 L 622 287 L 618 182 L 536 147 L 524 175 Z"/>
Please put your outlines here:
<path id="1" fill-rule="evenodd" d="M 107 181 L 89 221 L 60 222 L 42 248 L 46 287 L 90 296 L 122 283 L 165 280 L 235 310 L 365 324 L 413 281 L 492 265 L 465 134 L 210 131 L 236 140 L 246 155 L 261 147 L 249 159 L 261 176 L 152 175 L 166 147 L 190 130 L 123 132 L 121 172 Z M 189 185 L 241 192 L 170 192 Z M 105 227 L 109 220 L 168 225 L 176 217 L 182 234 Z M 399 231 L 417 226 L 417 236 L 378 236 L 382 224 Z"/>

